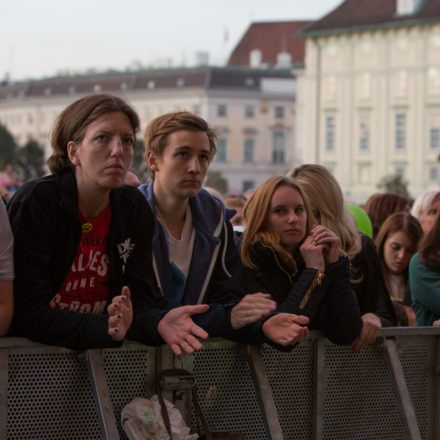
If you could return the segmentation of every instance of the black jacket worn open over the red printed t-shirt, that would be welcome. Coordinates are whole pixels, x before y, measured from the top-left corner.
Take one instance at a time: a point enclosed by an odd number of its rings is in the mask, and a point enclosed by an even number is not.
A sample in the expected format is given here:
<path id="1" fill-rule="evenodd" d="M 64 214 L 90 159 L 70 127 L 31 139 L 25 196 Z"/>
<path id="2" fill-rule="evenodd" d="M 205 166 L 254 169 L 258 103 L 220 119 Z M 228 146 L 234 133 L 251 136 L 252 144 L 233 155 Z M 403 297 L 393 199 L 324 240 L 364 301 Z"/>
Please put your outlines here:
<path id="1" fill-rule="evenodd" d="M 127 337 L 161 344 L 157 324 L 168 306 L 151 283 L 151 210 L 139 191 L 128 186 L 111 191 L 110 205 L 108 303 L 124 285 L 129 286 L 134 316 Z M 71 268 L 81 236 L 73 172 L 27 183 L 9 202 L 8 213 L 16 272 L 11 334 L 76 349 L 119 346 L 107 332 L 106 314 L 82 314 L 49 305 Z"/>

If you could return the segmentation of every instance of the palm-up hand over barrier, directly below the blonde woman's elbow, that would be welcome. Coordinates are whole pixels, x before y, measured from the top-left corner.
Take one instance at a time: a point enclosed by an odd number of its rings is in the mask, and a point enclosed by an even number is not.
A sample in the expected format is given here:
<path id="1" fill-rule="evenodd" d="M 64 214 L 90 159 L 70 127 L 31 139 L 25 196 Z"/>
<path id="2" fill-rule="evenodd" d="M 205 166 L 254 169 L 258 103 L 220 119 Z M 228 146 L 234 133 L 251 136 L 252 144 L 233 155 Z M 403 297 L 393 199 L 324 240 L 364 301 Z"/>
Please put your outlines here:
<path id="1" fill-rule="evenodd" d="M 278 313 L 267 319 L 262 327 L 264 335 L 276 344 L 287 346 L 304 341 L 309 335 L 309 318 L 292 313 Z"/>

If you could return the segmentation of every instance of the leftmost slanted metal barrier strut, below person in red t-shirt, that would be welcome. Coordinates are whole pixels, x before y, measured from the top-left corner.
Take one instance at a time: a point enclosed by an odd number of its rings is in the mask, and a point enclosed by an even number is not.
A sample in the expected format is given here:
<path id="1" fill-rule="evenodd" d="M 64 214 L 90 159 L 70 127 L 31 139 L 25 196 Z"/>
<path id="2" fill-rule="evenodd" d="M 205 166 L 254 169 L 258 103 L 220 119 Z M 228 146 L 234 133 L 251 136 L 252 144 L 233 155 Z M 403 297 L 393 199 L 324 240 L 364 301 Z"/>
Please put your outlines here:
<path id="1" fill-rule="evenodd" d="M 116 426 L 115 414 L 107 386 L 102 351 L 98 349 L 87 350 L 86 361 L 89 373 L 92 378 L 93 394 L 101 426 L 101 437 L 103 439 L 119 439 L 119 432 Z"/>

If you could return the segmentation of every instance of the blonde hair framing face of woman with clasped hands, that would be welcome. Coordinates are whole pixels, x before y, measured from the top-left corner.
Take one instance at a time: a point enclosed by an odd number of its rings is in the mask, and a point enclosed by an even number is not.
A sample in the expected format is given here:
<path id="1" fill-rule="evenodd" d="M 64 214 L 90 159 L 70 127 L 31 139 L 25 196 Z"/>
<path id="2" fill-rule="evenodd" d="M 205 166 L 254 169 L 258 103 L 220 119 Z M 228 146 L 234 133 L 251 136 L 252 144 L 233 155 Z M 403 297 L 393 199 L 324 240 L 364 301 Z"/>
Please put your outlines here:
<path id="1" fill-rule="evenodd" d="M 285 176 L 276 176 L 266 180 L 252 194 L 243 209 L 246 229 L 243 233 L 240 252 L 241 260 L 247 267 L 256 267 L 252 262 L 250 249 L 252 245 L 257 242 L 261 242 L 274 249 L 278 257 L 289 269 L 294 270 L 296 267 L 292 254 L 282 247 L 279 235 L 266 229 L 266 219 L 269 213 L 270 203 L 274 192 L 280 186 L 290 186 L 301 195 L 304 203 L 304 210 L 307 215 L 305 236 L 310 234 L 310 231 L 314 226 L 313 215 L 310 211 L 307 199 L 295 179 Z"/>

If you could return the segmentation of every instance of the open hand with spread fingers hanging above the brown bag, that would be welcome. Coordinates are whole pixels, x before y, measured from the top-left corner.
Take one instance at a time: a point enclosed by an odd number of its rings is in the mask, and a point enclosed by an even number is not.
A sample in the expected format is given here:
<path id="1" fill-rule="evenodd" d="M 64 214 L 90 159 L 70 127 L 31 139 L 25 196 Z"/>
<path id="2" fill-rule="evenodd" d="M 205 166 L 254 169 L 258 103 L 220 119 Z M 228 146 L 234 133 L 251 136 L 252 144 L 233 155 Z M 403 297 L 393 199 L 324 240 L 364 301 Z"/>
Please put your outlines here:
<path id="1" fill-rule="evenodd" d="M 194 324 L 191 315 L 205 313 L 209 309 L 207 304 L 195 306 L 182 306 L 171 309 L 157 326 L 159 334 L 177 355 L 194 353 L 194 350 L 203 348 L 197 338 L 207 339 L 208 333 L 201 327 Z"/>

